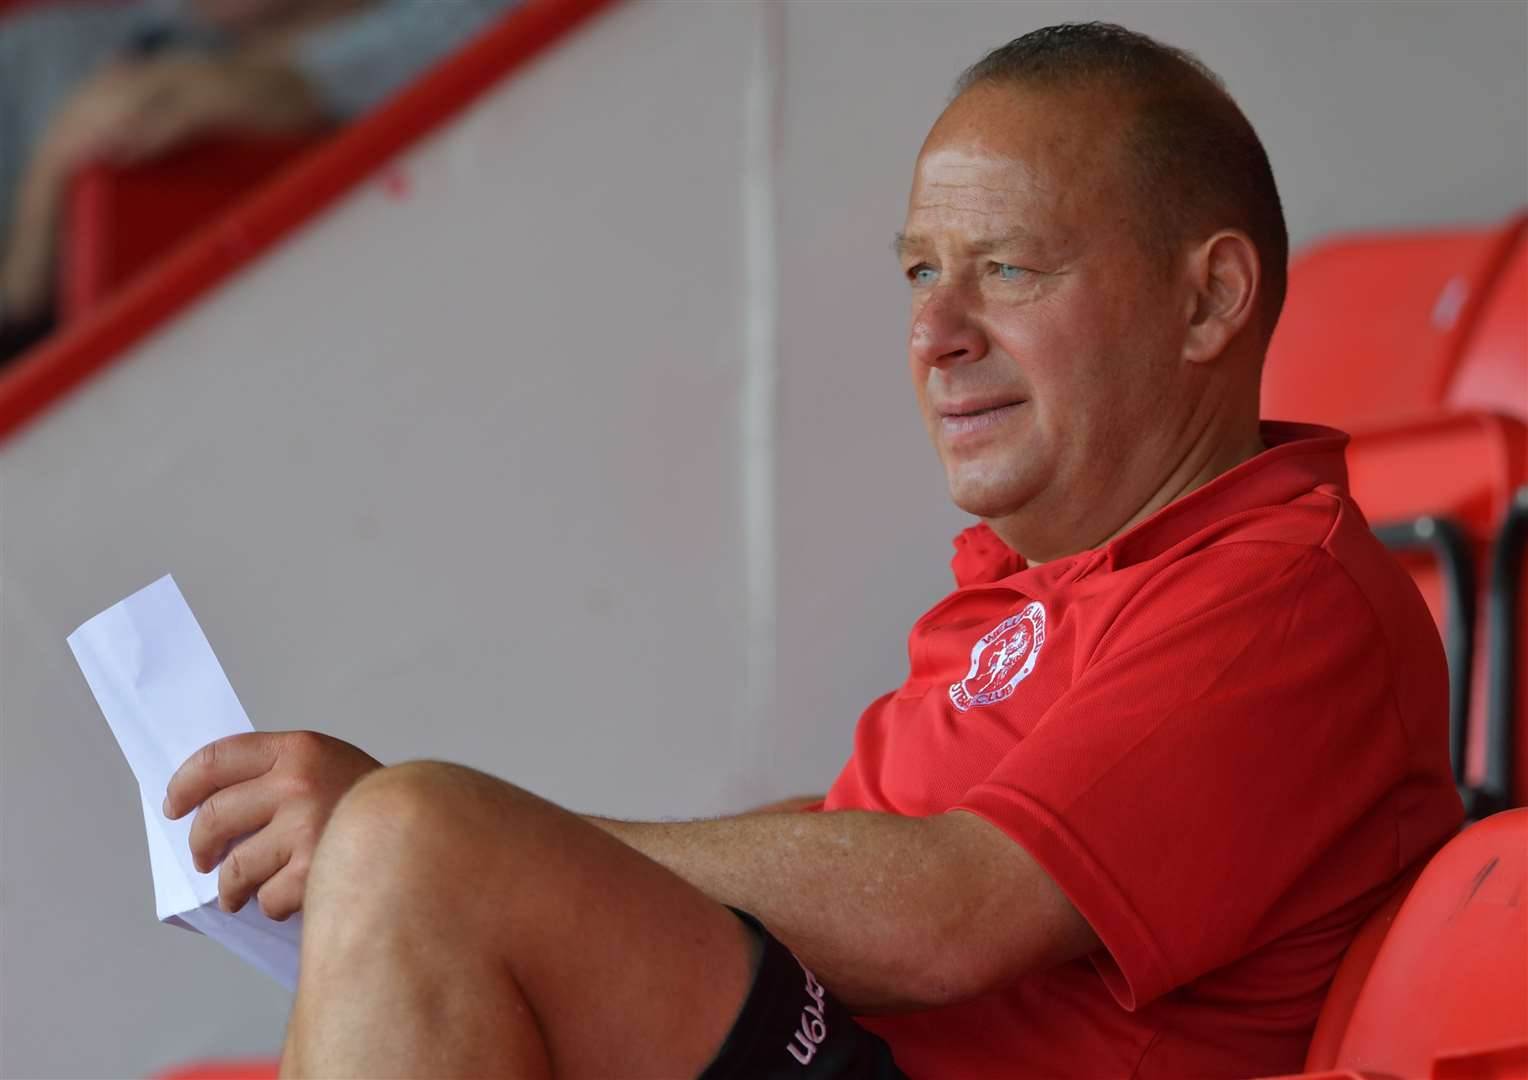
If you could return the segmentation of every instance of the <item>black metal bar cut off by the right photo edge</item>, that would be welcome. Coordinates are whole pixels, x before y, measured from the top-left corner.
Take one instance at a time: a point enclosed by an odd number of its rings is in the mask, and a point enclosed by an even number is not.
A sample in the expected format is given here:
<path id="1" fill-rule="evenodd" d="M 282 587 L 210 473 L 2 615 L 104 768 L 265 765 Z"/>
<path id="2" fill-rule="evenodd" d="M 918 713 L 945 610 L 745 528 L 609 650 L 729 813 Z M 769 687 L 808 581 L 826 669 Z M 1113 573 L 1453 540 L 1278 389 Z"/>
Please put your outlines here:
<path id="1" fill-rule="evenodd" d="M 1513 496 L 1491 547 L 1491 582 L 1485 599 L 1490 634 L 1485 675 L 1485 790 L 1496 810 L 1511 807 L 1517 778 L 1517 671 L 1522 642 L 1522 580 L 1528 559 L 1528 487 Z"/>

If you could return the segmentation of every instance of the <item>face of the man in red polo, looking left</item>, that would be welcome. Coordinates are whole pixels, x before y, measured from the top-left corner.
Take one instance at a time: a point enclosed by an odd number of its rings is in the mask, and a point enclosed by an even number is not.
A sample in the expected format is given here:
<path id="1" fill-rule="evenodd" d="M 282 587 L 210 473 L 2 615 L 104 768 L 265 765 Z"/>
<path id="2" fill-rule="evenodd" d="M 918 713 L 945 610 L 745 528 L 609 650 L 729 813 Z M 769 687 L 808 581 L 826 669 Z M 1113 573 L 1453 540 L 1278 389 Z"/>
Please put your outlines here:
<path id="1" fill-rule="evenodd" d="M 898 241 L 950 496 L 1034 538 L 1030 558 L 1111 535 L 1183 408 L 1183 292 L 1138 241 L 1120 113 L 1096 90 L 967 92 L 924 142 Z"/>

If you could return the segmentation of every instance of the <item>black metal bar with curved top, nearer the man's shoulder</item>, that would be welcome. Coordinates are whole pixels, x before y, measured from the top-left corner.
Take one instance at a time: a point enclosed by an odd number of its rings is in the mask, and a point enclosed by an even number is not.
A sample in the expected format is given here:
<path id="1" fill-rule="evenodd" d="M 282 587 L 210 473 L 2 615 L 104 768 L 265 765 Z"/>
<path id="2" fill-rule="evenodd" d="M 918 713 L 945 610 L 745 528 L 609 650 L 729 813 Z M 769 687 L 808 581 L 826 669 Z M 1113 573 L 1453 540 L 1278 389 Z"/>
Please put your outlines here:
<path id="1" fill-rule="evenodd" d="M 1465 813 L 1481 810 L 1484 793 L 1464 781 L 1470 732 L 1470 666 L 1475 658 L 1475 553 L 1470 538 L 1452 518 L 1424 515 L 1374 527 L 1392 551 L 1429 551 L 1438 561 L 1444 590 L 1442 646 L 1449 657 L 1449 759 Z"/>

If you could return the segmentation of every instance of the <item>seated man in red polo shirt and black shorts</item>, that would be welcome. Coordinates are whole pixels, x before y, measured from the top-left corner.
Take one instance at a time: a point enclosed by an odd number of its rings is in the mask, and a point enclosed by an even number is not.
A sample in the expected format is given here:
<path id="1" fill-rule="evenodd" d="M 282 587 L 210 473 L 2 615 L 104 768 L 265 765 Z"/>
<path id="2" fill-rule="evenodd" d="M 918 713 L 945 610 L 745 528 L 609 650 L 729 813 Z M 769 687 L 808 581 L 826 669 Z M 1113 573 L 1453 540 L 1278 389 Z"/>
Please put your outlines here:
<path id="1" fill-rule="evenodd" d="M 283 1069 L 1297 1069 L 1355 927 L 1461 807 L 1436 632 L 1343 437 L 1259 425 L 1285 243 L 1184 53 L 1059 26 L 970 69 L 897 249 L 983 524 L 908 681 L 817 805 L 709 822 L 303 732 L 212 744 L 167 813 L 200 804 L 202 866 L 249 836 L 226 906 L 306 910 Z"/>

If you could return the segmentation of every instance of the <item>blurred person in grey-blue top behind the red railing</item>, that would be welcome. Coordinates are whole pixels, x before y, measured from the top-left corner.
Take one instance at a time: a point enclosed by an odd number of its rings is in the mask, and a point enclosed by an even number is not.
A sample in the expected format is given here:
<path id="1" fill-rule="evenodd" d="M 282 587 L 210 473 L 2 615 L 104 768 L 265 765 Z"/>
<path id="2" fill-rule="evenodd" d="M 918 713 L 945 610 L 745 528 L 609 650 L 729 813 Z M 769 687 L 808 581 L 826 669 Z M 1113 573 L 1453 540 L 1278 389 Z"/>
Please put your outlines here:
<path id="1" fill-rule="evenodd" d="M 0 361 L 52 325 L 60 205 L 86 162 L 348 122 L 515 0 L 87 0 L 0 18 Z"/>

